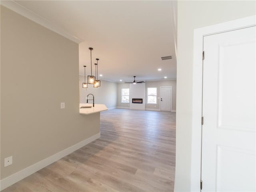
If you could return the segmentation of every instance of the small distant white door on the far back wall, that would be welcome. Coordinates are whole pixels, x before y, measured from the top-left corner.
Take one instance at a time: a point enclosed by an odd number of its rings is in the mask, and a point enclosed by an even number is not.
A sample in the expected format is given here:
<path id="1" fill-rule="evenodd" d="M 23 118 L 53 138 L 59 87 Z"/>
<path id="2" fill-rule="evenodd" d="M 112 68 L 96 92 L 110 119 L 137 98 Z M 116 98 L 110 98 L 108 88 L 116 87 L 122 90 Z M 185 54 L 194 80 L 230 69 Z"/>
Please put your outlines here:
<path id="1" fill-rule="evenodd" d="M 172 88 L 160 87 L 160 108 L 161 111 L 171 111 Z"/>

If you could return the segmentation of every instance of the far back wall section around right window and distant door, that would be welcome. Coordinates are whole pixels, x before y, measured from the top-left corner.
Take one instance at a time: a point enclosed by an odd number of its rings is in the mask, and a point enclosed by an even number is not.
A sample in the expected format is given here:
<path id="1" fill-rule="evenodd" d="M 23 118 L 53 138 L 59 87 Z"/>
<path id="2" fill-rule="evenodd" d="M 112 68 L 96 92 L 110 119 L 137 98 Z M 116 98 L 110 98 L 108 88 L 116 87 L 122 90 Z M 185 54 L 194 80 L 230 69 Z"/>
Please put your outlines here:
<path id="1" fill-rule="evenodd" d="M 157 100 L 156 104 L 147 104 L 146 109 L 160 110 L 160 87 L 171 86 L 172 87 L 172 111 L 176 111 L 176 80 L 166 80 L 166 81 L 147 81 L 146 82 L 146 98 L 147 90 L 151 87 L 157 88 Z M 147 101 L 146 101 L 147 102 Z"/>

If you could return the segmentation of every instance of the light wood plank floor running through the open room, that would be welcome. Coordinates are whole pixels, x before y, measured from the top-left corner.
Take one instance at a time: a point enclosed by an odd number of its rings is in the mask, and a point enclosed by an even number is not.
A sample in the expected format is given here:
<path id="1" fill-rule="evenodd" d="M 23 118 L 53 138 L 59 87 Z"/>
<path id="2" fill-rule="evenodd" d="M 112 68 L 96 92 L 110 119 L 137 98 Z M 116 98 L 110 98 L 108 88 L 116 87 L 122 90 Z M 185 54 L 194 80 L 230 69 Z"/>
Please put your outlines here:
<path id="1" fill-rule="evenodd" d="M 172 192 L 176 113 L 101 112 L 101 137 L 4 192 Z"/>

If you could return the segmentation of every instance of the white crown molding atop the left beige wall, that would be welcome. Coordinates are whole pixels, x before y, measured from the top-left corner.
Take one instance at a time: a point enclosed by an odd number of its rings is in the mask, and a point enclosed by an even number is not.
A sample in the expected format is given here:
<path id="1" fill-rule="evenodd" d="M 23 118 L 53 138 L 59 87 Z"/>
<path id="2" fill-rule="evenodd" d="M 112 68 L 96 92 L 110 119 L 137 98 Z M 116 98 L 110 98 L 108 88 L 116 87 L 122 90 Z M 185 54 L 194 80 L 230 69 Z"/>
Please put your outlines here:
<path id="1" fill-rule="evenodd" d="M 0 3 L 1 3 L 1 5 L 7 7 L 8 9 L 13 10 L 14 12 L 60 34 L 61 36 L 68 38 L 69 40 L 72 40 L 78 44 L 81 42 L 84 42 L 84 40 L 66 32 L 63 28 L 57 26 L 57 24 L 54 24 L 54 23 L 46 20 L 42 16 L 40 16 L 40 15 L 32 12 L 28 8 L 25 8 L 24 6 L 20 5 L 18 2 L 14 2 L 13 0 L 8 0 L 8 1 L 1 1 Z"/>

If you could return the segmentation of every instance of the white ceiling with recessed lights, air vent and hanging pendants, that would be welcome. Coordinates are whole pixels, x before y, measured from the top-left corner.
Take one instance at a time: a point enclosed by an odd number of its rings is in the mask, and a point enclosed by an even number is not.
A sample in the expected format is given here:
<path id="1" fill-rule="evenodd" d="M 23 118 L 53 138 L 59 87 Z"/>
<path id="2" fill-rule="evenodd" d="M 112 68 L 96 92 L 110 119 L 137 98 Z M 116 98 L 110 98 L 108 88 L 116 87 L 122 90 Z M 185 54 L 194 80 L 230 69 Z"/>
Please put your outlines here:
<path id="1" fill-rule="evenodd" d="M 176 79 L 176 1 L 15 1 L 79 44 L 79 74 L 99 58 L 99 77 L 113 82 Z M 161 60 L 162 56 L 172 60 Z M 158 71 L 162 68 L 162 71 Z"/>

